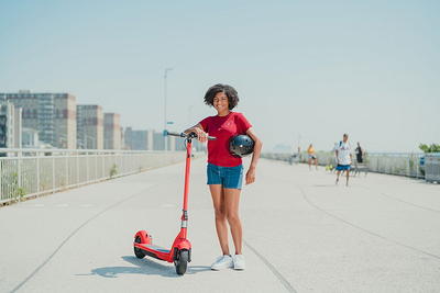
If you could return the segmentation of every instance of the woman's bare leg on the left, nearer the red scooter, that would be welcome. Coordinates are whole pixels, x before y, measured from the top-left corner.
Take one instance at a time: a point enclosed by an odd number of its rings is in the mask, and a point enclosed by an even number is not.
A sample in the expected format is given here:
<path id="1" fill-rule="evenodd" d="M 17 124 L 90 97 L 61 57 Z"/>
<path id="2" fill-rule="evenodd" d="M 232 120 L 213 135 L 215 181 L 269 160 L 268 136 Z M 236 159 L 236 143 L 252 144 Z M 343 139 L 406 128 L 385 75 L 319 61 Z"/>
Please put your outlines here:
<path id="1" fill-rule="evenodd" d="M 223 255 L 229 255 L 224 192 L 221 184 L 210 184 L 209 190 L 211 192 L 212 204 L 216 214 L 217 237 L 219 238 Z"/>

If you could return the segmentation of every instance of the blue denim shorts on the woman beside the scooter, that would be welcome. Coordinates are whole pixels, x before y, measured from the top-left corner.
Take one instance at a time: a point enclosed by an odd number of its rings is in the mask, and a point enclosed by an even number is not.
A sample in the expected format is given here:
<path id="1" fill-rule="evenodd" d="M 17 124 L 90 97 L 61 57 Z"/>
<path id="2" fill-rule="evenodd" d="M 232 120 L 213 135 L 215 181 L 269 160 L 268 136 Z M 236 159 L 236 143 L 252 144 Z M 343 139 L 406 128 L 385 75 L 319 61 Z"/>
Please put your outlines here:
<path id="1" fill-rule="evenodd" d="M 226 189 L 241 189 L 243 183 L 243 165 L 220 167 L 208 162 L 207 184 L 221 184 Z"/>

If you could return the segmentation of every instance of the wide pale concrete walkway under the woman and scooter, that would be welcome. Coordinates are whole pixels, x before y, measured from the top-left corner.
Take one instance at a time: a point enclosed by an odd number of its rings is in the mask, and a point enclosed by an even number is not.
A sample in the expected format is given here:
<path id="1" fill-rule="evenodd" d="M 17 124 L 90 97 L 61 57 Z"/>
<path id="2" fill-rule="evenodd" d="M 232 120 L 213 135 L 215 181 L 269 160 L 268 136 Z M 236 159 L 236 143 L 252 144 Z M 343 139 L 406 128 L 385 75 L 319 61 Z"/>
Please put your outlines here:
<path id="1" fill-rule="evenodd" d="M 205 162 L 194 164 L 193 262 L 133 256 L 147 229 L 170 246 L 184 165 L 0 209 L 0 292 L 440 292 L 440 185 L 370 173 L 334 184 L 323 169 L 261 160 L 241 214 L 248 269 L 219 255 Z"/>

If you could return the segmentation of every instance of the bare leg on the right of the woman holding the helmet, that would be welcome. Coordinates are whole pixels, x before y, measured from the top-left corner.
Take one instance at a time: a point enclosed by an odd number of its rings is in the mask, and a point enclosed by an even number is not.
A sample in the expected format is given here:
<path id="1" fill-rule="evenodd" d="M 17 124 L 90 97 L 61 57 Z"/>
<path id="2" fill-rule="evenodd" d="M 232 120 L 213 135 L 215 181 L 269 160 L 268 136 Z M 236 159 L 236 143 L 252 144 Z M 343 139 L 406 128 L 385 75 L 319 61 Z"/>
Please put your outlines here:
<path id="1" fill-rule="evenodd" d="M 226 215 L 231 227 L 232 240 L 235 246 L 235 255 L 241 255 L 242 249 L 242 227 L 239 216 L 240 189 L 223 189 Z"/>

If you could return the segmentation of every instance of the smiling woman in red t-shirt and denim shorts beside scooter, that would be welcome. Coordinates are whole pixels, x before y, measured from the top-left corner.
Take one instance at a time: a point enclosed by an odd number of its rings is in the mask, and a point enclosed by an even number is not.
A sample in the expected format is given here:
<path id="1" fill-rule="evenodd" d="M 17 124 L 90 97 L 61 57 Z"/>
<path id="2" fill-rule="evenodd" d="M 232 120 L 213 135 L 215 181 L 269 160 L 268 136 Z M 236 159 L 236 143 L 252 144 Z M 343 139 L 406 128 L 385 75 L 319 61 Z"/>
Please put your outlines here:
<path id="1" fill-rule="evenodd" d="M 229 151 L 229 140 L 235 135 L 246 134 L 255 143 L 252 161 L 245 177 L 246 184 L 255 181 L 262 142 L 255 135 L 252 125 L 244 115 L 231 111 L 239 103 L 239 95 L 234 88 L 227 84 L 212 86 L 205 94 L 205 103 L 213 106 L 217 115 L 204 119 L 185 133 L 195 132 L 201 143 L 207 142 L 207 135 L 217 137 L 216 140 L 208 142 L 207 184 L 209 184 L 211 192 L 217 236 L 222 256 L 212 263 L 211 269 L 234 268 L 235 270 L 244 270 L 242 226 L 239 216 L 243 165 L 240 157 L 235 157 Z M 233 256 L 231 256 L 228 245 L 228 224 L 235 247 Z"/>

